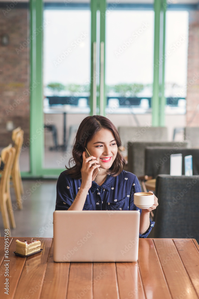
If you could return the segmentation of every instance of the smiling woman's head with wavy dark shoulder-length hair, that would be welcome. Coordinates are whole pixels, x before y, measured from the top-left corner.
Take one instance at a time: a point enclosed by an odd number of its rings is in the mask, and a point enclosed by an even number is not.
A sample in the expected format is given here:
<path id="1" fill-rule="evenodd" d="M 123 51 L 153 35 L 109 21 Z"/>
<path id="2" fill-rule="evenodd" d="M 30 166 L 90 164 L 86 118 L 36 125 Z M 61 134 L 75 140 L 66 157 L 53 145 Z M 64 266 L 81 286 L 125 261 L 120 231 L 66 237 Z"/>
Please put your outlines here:
<path id="1" fill-rule="evenodd" d="M 121 147 L 121 140 L 118 130 L 108 118 L 100 115 L 84 118 L 78 128 L 72 150 L 72 158 L 69 161 L 69 167 L 71 163 L 75 165 L 67 170 L 67 174 L 75 179 L 82 177 L 81 168 L 84 157 L 82 153 L 86 148 L 91 155 L 95 156 L 96 163 L 102 161 L 99 158 L 112 157 L 112 154 L 107 155 L 107 153 L 114 148 L 114 159 L 112 158 L 110 163 L 108 163 L 107 174 L 117 176 L 124 169 L 125 165 L 125 160 L 121 155 L 119 147 Z M 100 167 L 103 164 L 101 163 Z"/>

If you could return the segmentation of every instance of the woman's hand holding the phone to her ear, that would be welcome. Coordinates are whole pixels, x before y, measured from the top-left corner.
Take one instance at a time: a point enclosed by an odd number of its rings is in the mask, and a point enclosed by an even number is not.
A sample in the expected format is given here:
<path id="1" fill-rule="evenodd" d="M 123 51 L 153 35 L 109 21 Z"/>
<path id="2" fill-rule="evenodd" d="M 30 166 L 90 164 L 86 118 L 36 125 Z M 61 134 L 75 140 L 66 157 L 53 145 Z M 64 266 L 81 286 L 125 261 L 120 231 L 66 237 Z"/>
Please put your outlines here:
<path id="1" fill-rule="evenodd" d="M 100 165 L 96 160 L 96 157 L 89 156 L 86 158 L 85 152 L 82 154 L 83 163 L 81 167 L 81 188 L 89 190 L 92 186 L 92 174 L 96 168 L 99 168 Z M 96 163 L 96 165 L 94 165 Z"/>

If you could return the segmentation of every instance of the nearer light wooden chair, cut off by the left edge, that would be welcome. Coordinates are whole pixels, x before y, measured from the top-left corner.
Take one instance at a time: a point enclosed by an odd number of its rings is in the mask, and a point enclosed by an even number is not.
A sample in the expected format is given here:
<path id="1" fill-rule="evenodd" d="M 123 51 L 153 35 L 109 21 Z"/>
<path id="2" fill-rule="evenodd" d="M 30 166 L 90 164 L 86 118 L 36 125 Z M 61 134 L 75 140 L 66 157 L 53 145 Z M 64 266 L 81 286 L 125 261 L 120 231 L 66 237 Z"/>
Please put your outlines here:
<path id="1" fill-rule="evenodd" d="M 10 144 L 8 147 L 5 147 L 1 151 L 1 158 L 4 162 L 4 170 L 2 171 L 0 182 L 0 208 L 4 228 L 9 229 L 9 236 L 11 236 L 10 223 L 12 228 L 16 228 L 12 202 L 10 198 L 10 175 L 12 171 L 13 161 L 15 158 L 15 151 L 16 150 L 14 147 L 12 147 L 12 144 Z"/>

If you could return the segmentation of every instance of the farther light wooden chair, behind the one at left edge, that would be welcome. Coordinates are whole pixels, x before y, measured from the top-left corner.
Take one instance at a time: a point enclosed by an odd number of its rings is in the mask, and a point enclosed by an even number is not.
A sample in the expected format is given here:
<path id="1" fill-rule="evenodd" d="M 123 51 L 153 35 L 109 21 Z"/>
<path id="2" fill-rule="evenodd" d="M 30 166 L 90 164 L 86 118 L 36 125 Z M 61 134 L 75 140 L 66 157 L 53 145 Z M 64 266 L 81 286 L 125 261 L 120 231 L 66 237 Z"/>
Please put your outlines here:
<path id="1" fill-rule="evenodd" d="M 14 136 L 13 142 L 14 142 L 14 148 L 16 150 L 16 154 L 15 154 L 15 158 L 14 158 L 14 162 L 13 162 L 11 179 L 12 179 L 13 186 L 15 189 L 15 195 L 16 195 L 16 201 L 18 203 L 18 208 L 21 210 L 23 208 L 22 203 L 21 203 L 21 194 L 24 193 L 24 189 L 23 189 L 21 173 L 20 173 L 20 168 L 19 168 L 19 157 L 20 157 L 20 153 L 21 153 L 21 147 L 22 147 L 22 144 L 24 141 L 24 131 L 20 129 L 13 136 Z"/>

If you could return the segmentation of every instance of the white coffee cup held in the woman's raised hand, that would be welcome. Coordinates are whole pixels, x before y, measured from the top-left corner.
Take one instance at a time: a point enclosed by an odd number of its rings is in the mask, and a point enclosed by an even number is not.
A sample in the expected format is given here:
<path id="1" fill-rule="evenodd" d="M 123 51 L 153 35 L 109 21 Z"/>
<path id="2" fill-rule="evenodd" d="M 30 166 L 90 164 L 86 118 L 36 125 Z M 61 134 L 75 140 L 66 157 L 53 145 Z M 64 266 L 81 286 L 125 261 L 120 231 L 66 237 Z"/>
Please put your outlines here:
<path id="1" fill-rule="evenodd" d="M 148 209 L 154 205 L 154 194 L 150 192 L 134 193 L 134 204 L 141 209 Z"/>

